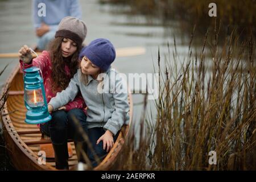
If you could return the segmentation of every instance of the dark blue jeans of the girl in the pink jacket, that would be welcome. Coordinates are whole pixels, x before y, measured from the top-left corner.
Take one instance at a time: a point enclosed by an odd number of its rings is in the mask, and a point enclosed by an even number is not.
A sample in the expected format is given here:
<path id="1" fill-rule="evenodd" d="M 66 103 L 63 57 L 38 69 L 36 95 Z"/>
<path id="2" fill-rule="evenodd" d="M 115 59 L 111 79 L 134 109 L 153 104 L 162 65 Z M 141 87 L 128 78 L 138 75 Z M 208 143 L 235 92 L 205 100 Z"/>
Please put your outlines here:
<path id="1" fill-rule="evenodd" d="M 77 125 L 73 121 L 74 116 L 87 134 L 88 129 L 84 111 L 81 109 L 72 109 L 69 111 L 56 110 L 51 115 L 51 121 L 40 124 L 40 130 L 43 134 L 51 137 L 53 144 L 64 144 L 67 143 L 68 139 L 73 139 L 74 142 L 84 141 L 79 132 L 77 132 Z"/>

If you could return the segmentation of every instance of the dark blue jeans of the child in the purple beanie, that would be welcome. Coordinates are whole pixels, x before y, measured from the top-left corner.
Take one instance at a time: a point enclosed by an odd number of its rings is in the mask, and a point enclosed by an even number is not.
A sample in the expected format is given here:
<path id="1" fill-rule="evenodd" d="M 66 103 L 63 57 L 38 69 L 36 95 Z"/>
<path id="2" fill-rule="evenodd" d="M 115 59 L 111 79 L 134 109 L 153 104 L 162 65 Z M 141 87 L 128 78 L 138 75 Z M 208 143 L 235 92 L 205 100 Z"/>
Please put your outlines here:
<path id="1" fill-rule="evenodd" d="M 98 158 L 100 158 L 100 160 L 104 159 L 105 156 L 108 154 L 108 152 L 106 152 L 106 148 L 105 148 L 105 150 L 103 149 L 102 141 L 98 144 L 96 144 L 96 142 L 102 135 L 105 134 L 105 132 L 106 131 L 103 129 L 103 127 L 94 127 L 92 129 L 88 129 L 88 137 L 90 139 L 90 143 L 92 143 L 94 152 L 98 156 Z M 119 131 L 115 136 L 113 136 L 114 142 L 115 142 L 115 140 L 117 140 L 118 134 L 119 134 Z M 87 153 L 88 153 L 90 162 L 92 162 L 93 167 L 96 167 L 97 162 L 94 159 L 93 153 L 92 153 L 92 151 L 90 151 L 89 147 L 88 147 Z"/>

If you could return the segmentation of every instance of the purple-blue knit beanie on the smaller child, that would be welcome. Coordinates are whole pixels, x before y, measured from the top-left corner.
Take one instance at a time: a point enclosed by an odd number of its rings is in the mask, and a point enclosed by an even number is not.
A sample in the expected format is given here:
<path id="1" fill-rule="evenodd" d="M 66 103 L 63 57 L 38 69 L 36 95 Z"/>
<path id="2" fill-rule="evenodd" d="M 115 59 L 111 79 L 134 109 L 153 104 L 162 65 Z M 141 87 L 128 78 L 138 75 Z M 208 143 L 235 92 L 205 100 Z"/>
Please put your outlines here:
<path id="1" fill-rule="evenodd" d="M 82 49 L 79 57 L 82 59 L 84 56 L 102 71 L 107 71 L 115 60 L 115 48 L 107 39 L 96 39 Z"/>

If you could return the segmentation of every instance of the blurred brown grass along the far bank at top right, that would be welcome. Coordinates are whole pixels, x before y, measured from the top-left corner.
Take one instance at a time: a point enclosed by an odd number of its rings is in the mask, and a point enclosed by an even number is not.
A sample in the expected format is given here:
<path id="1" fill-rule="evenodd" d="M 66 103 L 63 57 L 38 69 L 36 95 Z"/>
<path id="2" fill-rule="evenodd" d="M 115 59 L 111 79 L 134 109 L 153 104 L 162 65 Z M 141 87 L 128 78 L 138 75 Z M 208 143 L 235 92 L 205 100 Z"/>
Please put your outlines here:
<path id="1" fill-rule="evenodd" d="M 179 26 L 184 33 L 193 25 L 199 24 L 198 33 L 204 33 L 207 28 L 214 27 L 213 18 L 208 15 L 210 3 L 216 3 L 217 19 L 226 25 L 226 31 L 237 28 L 241 35 L 256 34 L 256 3 L 251 0 L 99 0 L 115 5 L 128 5 L 130 14 L 143 14 L 148 17 L 158 18 L 163 24 L 172 24 L 170 20 L 179 21 Z M 245 28 L 247 27 L 247 28 Z M 248 28 L 250 27 L 250 28 Z"/>

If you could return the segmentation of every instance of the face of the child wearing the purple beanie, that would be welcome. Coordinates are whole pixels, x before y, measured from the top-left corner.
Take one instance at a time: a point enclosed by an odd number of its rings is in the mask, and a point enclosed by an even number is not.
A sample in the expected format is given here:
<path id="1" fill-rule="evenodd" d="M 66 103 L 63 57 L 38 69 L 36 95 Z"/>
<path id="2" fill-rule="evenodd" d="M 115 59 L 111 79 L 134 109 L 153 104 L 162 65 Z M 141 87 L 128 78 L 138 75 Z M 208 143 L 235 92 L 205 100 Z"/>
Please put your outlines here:
<path id="1" fill-rule="evenodd" d="M 100 73 L 100 68 L 94 65 L 86 56 L 81 60 L 81 71 L 85 75 L 96 76 Z"/>

